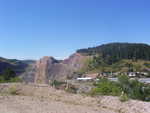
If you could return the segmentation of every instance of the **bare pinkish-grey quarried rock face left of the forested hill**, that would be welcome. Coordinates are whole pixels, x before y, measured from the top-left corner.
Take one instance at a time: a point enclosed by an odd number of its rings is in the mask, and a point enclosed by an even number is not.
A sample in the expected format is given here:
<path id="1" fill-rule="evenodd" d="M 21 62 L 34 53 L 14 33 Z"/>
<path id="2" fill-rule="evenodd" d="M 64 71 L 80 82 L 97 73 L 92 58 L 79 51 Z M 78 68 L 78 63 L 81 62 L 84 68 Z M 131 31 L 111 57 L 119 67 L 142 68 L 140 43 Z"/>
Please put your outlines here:
<path id="1" fill-rule="evenodd" d="M 48 83 L 49 80 L 65 80 L 84 65 L 85 56 L 78 53 L 68 59 L 58 61 L 44 57 L 36 63 L 35 83 Z"/>

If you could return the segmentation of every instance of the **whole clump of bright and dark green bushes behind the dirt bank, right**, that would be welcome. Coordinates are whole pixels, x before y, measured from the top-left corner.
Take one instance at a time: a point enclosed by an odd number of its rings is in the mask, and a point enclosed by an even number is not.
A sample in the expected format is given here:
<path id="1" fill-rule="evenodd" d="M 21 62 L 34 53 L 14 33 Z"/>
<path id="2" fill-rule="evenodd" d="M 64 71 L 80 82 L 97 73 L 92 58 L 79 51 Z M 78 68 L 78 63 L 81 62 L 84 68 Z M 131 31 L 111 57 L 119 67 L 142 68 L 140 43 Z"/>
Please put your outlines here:
<path id="1" fill-rule="evenodd" d="M 106 78 L 100 79 L 90 94 L 92 96 L 120 96 L 121 101 L 127 101 L 128 99 L 150 101 L 150 86 L 136 79 L 131 80 L 126 75 L 121 75 L 118 77 L 118 82 L 109 81 Z"/>

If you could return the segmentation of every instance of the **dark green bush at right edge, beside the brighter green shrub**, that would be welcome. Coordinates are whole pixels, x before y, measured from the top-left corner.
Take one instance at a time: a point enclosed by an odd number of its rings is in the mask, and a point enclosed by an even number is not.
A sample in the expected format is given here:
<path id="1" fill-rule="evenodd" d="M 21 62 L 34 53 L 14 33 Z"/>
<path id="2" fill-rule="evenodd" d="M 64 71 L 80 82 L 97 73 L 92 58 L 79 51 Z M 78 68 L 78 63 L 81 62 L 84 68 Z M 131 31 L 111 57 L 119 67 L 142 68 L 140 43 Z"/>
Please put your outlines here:
<path id="1" fill-rule="evenodd" d="M 150 95 L 150 86 L 145 85 L 138 80 L 130 80 L 126 75 L 118 78 L 122 91 L 131 99 L 148 101 Z"/>

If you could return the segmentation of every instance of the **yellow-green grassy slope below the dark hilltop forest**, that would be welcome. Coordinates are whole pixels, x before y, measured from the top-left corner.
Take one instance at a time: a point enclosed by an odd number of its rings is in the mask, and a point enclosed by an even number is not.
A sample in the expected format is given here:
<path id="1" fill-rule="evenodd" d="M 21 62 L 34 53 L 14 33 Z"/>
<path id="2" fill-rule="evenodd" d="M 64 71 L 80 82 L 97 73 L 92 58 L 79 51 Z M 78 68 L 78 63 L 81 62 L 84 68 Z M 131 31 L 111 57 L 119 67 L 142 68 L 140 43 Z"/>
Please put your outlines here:
<path id="1" fill-rule="evenodd" d="M 91 59 L 87 59 L 85 66 L 79 71 L 82 73 L 97 73 L 97 72 L 127 72 L 129 64 L 132 65 L 133 71 L 145 71 L 150 68 L 150 61 L 137 60 L 132 61 L 128 59 L 120 60 L 112 65 L 102 64 L 94 69 L 89 69 L 88 65 Z M 147 65 L 145 65 L 147 64 Z"/>

